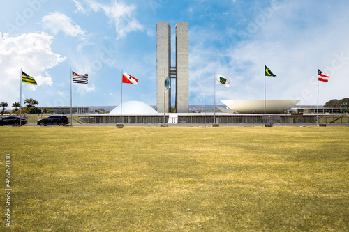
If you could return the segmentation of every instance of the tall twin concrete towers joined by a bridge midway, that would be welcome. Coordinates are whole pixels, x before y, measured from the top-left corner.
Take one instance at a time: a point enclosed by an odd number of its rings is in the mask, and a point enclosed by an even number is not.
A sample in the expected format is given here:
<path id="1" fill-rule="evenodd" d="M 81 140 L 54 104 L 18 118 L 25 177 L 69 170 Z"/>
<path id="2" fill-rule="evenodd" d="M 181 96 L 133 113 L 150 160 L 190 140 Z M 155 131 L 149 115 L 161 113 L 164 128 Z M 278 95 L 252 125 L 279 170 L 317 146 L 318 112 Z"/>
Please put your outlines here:
<path id="1" fill-rule="evenodd" d="M 156 107 L 159 113 L 171 112 L 171 91 L 166 91 L 165 77 L 176 83 L 175 107 L 177 113 L 189 111 L 189 24 L 176 25 L 176 65 L 171 65 L 171 26 L 168 22 L 156 24 Z M 166 92 L 165 92 L 166 91 Z"/>

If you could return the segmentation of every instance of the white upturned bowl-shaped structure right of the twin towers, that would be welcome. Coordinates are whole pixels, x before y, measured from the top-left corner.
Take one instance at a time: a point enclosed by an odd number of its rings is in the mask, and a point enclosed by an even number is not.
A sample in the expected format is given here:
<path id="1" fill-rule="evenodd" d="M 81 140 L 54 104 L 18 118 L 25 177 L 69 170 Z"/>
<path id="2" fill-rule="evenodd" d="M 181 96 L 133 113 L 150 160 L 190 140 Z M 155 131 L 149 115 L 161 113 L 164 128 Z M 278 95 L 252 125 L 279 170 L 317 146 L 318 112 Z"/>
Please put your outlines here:
<path id="1" fill-rule="evenodd" d="M 294 107 L 300 100 L 221 100 L 224 105 L 240 114 L 281 114 Z"/>

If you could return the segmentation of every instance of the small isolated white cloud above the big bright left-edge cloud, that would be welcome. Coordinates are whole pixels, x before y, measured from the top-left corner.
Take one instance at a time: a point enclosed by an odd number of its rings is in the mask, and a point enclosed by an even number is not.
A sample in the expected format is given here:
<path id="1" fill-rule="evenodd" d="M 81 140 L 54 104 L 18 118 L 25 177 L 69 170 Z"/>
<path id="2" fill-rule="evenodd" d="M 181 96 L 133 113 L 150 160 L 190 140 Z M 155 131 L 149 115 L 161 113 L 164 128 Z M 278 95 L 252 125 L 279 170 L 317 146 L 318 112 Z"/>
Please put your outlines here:
<path id="1" fill-rule="evenodd" d="M 59 32 L 63 32 L 67 36 L 73 37 L 86 37 L 86 31 L 81 29 L 79 25 L 74 24 L 70 17 L 64 15 L 63 13 L 50 13 L 46 15 L 41 20 L 41 24 L 47 30 L 50 30 L 54 35 Z"/>

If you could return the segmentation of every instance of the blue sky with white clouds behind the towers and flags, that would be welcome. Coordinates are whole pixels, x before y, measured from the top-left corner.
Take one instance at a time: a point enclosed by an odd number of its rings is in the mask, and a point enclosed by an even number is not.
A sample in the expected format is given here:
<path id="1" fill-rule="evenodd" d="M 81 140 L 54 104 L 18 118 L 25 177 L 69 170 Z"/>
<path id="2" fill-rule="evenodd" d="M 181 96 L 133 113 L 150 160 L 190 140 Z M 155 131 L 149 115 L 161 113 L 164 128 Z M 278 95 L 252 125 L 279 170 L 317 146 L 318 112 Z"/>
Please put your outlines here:
<path id="1" fill-rule="evenodd" d="M 156 105 L 156 23 L 189 23 L 189 105 L 220 100 L 295 99 L 324 105 L 349 97 L 348 0 L 19 0 L 0 8 L 0 102 L 70 106 L 70 69 L 89 75 L 73 84 L 73 106 L 123 102 Z M 277 77 L 266 77 L 264 66 Z M 318 69 L 331 75 L 318 82 Z M 266 86 L 266 91 L 264 86 Z M 172 102 L 174 102 L 172 91 Z M 319 96 L 319 97 L 318 97 Z M 9 107 L 11 108 L 11 107 Z"/>

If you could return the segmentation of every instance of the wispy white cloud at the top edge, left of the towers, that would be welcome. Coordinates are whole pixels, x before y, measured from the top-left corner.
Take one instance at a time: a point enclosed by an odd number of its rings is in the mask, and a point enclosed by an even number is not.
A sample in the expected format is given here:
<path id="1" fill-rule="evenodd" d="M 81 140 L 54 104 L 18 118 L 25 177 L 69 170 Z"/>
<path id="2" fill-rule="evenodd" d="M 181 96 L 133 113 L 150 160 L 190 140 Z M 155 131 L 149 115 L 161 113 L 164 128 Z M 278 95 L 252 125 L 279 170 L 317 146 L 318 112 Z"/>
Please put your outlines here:
<path id="1" fill-rule="evenodd" d="M 126 5 L 124 1 L 114 0 L 109 5 L 98 3 L 94 0 L 84 1 L 94 12 L 102 11 L 111 24 L 114 24 L 117 33 L 117 39 L 124 38 L 132 31 L 144 31 L 144 27 L 135 19 L 135 5 Z M 81 4 L 77 9 L 82 8 Z M 79 10 L 81 11 L 81 10 Z"/>

